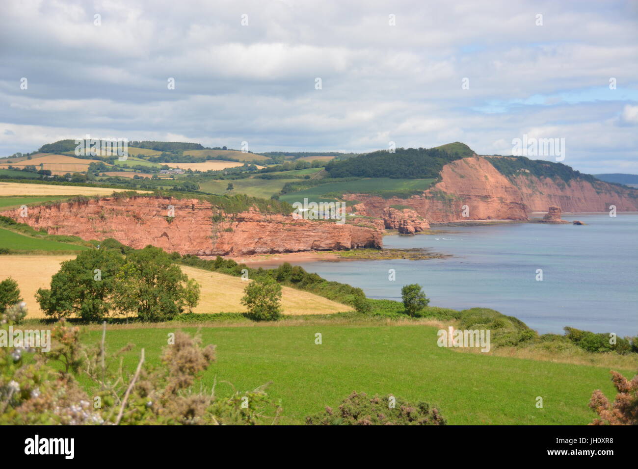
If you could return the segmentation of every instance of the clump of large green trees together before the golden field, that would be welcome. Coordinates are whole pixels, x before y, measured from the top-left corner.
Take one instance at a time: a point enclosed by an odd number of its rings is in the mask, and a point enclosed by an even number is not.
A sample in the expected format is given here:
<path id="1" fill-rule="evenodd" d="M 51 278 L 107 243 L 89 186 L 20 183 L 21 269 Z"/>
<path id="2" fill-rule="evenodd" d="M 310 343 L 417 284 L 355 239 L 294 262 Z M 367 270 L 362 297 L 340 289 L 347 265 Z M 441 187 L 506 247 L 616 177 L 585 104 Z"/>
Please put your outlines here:
<path id="1" fill-rule="evenodd" d="M 52 318 L 77 316 L 87 322 L 112 313 L 137 315 L 140 320 L 171 320 L 199 301 L 199 285 L 188 279 L 162 249 L 147 246 L 130 251 L 91 249 L 62 263 L 50 289 L 36 299 Z"/>

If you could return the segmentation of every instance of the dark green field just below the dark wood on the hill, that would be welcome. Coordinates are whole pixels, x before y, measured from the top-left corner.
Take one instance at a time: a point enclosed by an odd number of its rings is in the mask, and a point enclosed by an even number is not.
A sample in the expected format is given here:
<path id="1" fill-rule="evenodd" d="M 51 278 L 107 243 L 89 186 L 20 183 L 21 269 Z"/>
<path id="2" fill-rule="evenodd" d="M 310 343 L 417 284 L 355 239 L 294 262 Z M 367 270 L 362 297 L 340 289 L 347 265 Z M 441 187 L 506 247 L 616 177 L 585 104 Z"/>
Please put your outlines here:
<path id="1" fill-rule="evenodd" d="M 389 179 L 377 177 L 372 179 L 359 179 L 348 182 L 329 182 L 321 186 L 305 189 L 299 192 L 282 195 L 279 199 L 285 202 L 297 202 L 308 200 L 312 202 L 330 202 L 330 198 L 322 197 L 328 193 L 373 193 L 374 191 L 409 191 L 426 190 L 432 185 L 434 179 Z"/>

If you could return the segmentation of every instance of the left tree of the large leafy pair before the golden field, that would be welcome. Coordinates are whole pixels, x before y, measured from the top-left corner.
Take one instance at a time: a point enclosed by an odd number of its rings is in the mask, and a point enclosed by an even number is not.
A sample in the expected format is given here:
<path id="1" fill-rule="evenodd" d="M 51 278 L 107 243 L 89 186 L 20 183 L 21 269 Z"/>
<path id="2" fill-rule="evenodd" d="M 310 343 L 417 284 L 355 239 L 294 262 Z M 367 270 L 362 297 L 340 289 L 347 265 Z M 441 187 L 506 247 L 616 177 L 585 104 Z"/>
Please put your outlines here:
<path id="1" fill-rule="evenodd" d="M 105 249 L 82 251 L 62 263 L 51 278 L 50 290 L 40 288 L 36 299 L 45 315 L 63 318 L 77 315 L 86 321 L 108 316 L 121 255 Z"/>

